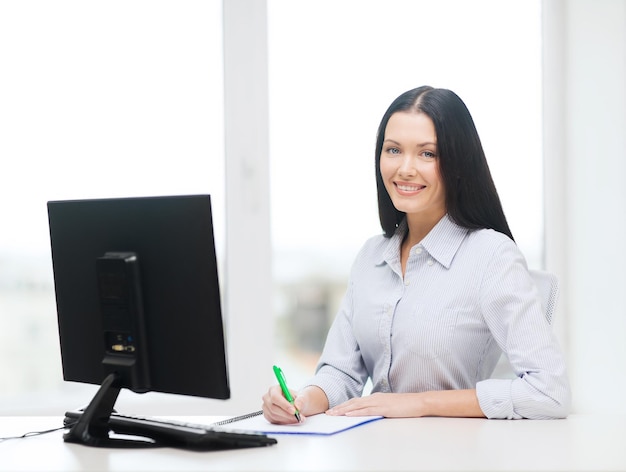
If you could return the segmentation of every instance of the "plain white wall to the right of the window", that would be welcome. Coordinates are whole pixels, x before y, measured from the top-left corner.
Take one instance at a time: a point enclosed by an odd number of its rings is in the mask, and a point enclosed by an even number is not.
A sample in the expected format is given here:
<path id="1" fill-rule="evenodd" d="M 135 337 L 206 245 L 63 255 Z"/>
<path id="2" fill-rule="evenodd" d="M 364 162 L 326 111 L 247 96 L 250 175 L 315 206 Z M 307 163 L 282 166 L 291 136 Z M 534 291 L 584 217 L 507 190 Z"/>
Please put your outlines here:
<path id="1" fill-rule="evenodd" d="M 625 413 L 626 1 L 543 4 L 546 263 L 574 409 Z"/>

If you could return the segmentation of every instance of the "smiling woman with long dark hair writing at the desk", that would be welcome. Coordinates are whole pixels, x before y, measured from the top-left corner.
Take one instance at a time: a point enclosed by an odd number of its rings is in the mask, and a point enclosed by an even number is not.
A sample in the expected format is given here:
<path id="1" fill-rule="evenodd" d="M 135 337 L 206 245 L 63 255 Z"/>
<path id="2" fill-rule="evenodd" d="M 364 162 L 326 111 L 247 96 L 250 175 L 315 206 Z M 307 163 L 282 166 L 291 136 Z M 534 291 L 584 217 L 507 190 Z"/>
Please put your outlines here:
<path id="1" fill-rule="evenodd" d="M 384 234 L 355 258 L 315 376 L 292 403 L 271 387 L 265 417 L 567 416 L 565 358 L 465 104 L 447 89 L 403 93 L 375 162 Z M 492 377 L 502 353 L 513 378 Z"/>

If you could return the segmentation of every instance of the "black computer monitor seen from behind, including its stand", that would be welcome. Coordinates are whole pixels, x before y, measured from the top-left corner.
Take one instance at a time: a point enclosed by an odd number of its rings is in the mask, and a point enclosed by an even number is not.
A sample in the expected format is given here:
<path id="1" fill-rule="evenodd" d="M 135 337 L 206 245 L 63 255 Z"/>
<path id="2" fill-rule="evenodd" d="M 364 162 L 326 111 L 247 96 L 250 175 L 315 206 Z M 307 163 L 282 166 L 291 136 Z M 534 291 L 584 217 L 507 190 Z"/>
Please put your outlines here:
<path id="1" fill-rule="evenodd" d="M 120 389 L 230 397 L 209 195 L 48 202 L 63 377 L 101 385 L 67 441 L 101 434 Z"/>

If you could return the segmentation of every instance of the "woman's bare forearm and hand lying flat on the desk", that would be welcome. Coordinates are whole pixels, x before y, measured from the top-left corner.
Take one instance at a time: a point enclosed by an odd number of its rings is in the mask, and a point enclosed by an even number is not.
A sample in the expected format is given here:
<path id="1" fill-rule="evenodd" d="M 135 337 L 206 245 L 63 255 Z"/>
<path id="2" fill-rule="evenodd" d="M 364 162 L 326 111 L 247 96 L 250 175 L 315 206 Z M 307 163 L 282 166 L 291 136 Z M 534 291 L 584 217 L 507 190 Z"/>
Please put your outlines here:
<path id="1" fill-rule="evenodd" d="M 374 393 L 353 398 L 331 408 L 330 415 L 408 418 L 419 416 L 454 416 L 484 418 L 476 390 L 441 390 L 422 393 Z"/>

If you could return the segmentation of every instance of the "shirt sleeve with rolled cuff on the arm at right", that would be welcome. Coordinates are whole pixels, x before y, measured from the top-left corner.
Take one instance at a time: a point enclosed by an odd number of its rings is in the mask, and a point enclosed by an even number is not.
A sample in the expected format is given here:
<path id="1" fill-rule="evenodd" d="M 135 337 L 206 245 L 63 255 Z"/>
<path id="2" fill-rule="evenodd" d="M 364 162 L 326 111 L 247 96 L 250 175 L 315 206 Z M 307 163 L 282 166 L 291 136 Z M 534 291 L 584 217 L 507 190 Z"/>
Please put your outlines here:
<path id="1" fill-rule="evenodd" d="M 512 242 L 493 254 L 481 284 L 485 322 L 516 378 L 487 379 L 476 393 L 488 418 L 564 418 L 571 405 L 565 360 L 525 261 Z"/>

